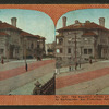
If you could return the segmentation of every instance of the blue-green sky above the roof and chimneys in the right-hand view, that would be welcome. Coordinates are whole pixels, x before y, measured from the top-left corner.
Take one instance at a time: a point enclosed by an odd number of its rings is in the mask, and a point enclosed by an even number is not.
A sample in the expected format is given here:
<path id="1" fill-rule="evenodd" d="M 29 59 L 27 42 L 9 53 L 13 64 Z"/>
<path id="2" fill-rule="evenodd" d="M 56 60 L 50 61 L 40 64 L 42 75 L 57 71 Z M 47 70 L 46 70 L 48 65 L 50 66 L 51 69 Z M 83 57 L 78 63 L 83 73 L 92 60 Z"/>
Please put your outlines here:
<path id="1" fill-rule="evenodd" d="M 109 28 L 109 9 L 83 9 L 70 11 L 62 16 L 66 16 L 66 25 L 74 24 L 75 20 L 82 23 L 90 21 L 99 24 L 99 17 L 105 17 L 105 27 Z M 57 23 L 57 29 L 62 27 L 62 16 Z"/>

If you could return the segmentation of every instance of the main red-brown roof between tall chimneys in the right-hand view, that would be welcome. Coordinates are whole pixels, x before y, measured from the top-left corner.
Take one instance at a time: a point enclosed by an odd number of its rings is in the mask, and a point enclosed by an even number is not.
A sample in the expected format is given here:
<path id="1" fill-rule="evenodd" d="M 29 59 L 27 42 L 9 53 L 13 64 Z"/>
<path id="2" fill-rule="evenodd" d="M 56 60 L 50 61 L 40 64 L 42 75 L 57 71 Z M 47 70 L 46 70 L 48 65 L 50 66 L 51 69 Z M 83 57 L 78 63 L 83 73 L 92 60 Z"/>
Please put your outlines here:
<path id="1" fill-rule="evenodd" d="M 77 24 L 69 25 L 69 26 L 57 29 L 57 32 L 70 31 L 70 29 L 97 29 L 97 28 L 109 32 L 108 28 L 100 26 L 94 22 L 92 22 L 92 23 L 77 23 Z"/>

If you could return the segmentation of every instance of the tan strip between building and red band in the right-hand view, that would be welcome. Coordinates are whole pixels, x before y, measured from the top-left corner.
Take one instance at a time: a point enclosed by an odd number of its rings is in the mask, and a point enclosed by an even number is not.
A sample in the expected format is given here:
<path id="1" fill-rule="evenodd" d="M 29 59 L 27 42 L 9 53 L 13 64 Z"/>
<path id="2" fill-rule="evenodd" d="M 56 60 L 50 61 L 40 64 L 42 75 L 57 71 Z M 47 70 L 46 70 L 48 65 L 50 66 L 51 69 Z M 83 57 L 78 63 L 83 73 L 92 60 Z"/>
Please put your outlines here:
<path id="1" fill-rule="evenodd" d="M 57 75 L 57 77 L 66 76 L 71 74 L 84 73 L 88 71 L 95 71 L 95 70 L 107 68 L 107 66 L 109 66 L 108 60 L 93 62 L 93 64 L 84 63 L 84 64 L 81 64 L 81 68 L 78 66 L 77 70 L 75 70 L 74 69 L 75 66 L 73 66 L 73 70 L 71 72 L 69 71 L 69 68 L 61 68 L 60 74 Z"/>

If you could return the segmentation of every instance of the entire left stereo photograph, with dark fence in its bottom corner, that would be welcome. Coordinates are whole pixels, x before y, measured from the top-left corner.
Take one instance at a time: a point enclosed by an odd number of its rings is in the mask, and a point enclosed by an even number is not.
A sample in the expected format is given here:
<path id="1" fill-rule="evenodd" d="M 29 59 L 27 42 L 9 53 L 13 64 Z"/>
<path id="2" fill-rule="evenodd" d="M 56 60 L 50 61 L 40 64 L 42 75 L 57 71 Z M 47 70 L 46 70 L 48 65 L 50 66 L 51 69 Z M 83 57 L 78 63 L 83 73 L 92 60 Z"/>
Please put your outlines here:
<path id="1" fill-rule="evenodd" d="M 55 45 L 46 13 L 0 9 L 0 95 L 55 95 Z"/>

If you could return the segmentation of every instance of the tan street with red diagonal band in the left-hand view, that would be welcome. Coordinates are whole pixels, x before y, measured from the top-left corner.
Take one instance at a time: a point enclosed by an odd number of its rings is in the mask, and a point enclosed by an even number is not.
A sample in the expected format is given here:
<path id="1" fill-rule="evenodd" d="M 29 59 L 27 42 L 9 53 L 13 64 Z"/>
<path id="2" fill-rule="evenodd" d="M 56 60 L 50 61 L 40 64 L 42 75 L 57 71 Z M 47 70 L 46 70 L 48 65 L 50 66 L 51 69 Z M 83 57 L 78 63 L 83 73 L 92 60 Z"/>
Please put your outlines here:
<path id="1" fill-rule="evenodd" d="M 0 95 L 8 95 L 14 92 L 14 95 L 32 95 L 34 84 L 43 81 L 45 84 L 50 77 L 53 76 L 55 60 L 27 60 L 28 71 L 25 71 L 24 60 L 10 61 L 4 64 L 0 64 Z M 33 83 L 32 83 L 33 82 Z M 33 87 L 28 87 L 33 85 Z M 20 88 L 24 87 L 20 90 Z M 19 89 L 17 89 L 19 88 Z M 29 92 L 27 92 L 29 89 Z M 23 92 L 23 93 L 22 93 Z"/>

